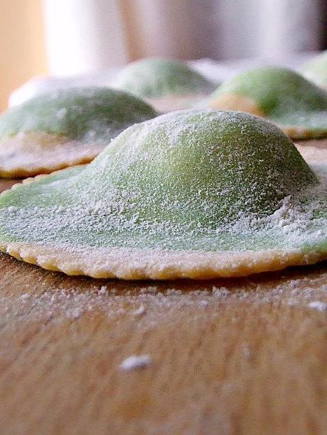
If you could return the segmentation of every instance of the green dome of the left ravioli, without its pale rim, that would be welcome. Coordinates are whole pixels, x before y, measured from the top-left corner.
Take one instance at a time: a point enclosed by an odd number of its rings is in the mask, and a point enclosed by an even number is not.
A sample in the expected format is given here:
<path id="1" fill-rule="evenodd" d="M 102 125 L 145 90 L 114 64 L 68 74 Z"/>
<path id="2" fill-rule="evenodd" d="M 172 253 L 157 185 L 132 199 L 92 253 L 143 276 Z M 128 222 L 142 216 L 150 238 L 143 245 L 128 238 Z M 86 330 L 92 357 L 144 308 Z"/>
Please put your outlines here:
<path id="1" fill-rule="evenodd" d="M 144 101 L 105 87 L 72 87 L 38 95 L 0 116 L 0 138 L 44 132 L 107 143 L 124 128 L 156 116 Z"/>

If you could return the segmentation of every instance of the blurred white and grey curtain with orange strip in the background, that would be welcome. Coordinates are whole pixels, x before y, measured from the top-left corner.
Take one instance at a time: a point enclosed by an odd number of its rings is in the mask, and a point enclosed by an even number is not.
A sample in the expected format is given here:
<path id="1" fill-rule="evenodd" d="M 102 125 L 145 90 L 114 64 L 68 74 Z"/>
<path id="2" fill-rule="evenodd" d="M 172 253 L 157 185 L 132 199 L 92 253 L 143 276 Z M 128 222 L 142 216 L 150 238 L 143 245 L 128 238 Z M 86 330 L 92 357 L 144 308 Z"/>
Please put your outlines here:
<path id="1" fill-rule="evenodd" d="M 0 110 L 34 76 L 146 56 L 285 62 L 327 48 L 326 0 L 0 0 Z"/>

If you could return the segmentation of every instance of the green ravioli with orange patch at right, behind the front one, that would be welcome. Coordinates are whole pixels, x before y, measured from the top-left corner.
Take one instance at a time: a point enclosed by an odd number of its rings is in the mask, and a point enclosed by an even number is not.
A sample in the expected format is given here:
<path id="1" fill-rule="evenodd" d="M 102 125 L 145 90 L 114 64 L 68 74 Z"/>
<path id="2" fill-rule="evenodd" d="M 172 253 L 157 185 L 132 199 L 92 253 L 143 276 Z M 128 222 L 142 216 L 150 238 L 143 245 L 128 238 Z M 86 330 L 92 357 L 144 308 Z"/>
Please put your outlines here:
<path id="1" fill-rule="evenodd" d="M 292 138 L 327 136 L 327 92 L 292 70 L 242 72 L 218 87 L 205 105 L 263 116 Z"/>

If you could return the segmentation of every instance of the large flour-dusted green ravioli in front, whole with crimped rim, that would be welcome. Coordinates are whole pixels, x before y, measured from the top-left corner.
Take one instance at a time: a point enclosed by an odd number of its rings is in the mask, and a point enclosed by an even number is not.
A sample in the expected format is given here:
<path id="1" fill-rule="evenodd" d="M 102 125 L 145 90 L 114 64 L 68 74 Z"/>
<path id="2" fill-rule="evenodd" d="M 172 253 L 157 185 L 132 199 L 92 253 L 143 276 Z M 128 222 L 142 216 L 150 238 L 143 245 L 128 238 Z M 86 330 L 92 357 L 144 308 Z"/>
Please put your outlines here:
<path id="1" fill-rule="evenodd" d="M 248 275 L 327 253 L 326 168 L 273 124 L 173 112 L 127 128 L 86 167 L 0 197 L 0 246 L 69 274 Z"/>

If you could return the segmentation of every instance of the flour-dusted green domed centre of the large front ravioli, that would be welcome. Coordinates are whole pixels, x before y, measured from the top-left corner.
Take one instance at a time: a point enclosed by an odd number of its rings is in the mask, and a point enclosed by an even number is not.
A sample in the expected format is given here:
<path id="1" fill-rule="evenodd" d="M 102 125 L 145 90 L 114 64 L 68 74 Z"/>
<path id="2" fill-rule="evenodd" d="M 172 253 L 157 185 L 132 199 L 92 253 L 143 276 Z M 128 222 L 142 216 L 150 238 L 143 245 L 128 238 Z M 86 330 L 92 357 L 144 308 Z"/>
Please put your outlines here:
<path id="1" fill-rule="evenodd" d="M 289 138 L 242 112 L 189 110 L 124 131 L 97 161 L 112 186 L 141 199 L 146 218 L 215 226 L 267 214 L 316 180 Z"/>

